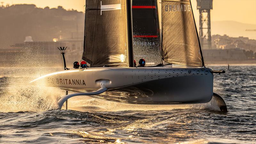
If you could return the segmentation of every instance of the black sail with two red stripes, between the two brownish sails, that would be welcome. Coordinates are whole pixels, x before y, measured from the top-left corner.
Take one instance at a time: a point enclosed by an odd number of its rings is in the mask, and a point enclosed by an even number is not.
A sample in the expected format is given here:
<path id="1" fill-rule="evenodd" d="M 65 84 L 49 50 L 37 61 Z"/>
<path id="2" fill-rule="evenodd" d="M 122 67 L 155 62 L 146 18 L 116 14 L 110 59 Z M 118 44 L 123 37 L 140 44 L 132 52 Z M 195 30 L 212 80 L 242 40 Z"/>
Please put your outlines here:
<path id="1" fill-rule="evenodd" d="M 160 64 L 157 0 L 132 0 L 132 26 L 134 59 L 145 59 L 146 66 Z"/>

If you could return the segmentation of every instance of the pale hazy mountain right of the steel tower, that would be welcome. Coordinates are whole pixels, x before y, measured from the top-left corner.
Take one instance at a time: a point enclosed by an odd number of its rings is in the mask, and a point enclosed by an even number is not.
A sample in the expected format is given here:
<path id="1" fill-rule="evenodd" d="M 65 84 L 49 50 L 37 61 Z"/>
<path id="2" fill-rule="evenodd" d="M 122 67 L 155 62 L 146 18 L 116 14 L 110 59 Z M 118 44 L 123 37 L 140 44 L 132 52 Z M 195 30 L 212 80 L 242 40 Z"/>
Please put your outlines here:
<path id="1" fill-rule="evenodd" d="M 228 35 L 229 37 L 244 36 L 249 39 L 256 39 L 255 31 L 245 31 L 246 29 L 256 29 L 256 24 L 247 24 L 237 21 L 212 21 L 212 35 Z"/>

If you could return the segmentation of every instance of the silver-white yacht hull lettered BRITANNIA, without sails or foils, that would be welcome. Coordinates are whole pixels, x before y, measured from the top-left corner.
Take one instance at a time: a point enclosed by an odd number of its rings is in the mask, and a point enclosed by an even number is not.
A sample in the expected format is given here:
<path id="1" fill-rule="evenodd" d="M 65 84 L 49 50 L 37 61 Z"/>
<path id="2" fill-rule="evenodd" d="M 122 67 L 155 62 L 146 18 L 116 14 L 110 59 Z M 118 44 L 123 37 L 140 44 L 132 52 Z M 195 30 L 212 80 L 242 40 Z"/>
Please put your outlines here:
<path id="1" fill-rule="evenodd" d="M 93 92 L 104 82 L 106 92 L 89 96 L 136 104 L 206 103 L 213 95 L 210 70 L 170 66 L 70 69 L 39 77 L 31 83 L 71 92 Z"/>

